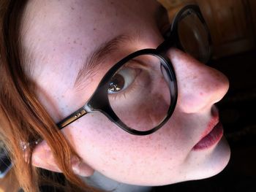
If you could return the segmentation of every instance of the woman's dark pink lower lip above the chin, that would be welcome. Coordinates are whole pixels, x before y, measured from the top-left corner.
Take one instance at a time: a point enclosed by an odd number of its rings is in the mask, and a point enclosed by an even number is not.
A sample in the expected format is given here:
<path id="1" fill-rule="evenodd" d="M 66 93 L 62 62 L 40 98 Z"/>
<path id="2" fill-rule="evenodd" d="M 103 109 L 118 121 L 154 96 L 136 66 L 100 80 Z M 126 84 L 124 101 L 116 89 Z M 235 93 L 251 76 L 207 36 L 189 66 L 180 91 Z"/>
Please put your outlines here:
<path id="1" fill-rule="evenodd" d="M 217 142 L 219 142 L 220 139 L 222 139 L 223 136 L 223 127 L 222 123 L 217 123 L 216 126 L 211 130 L 211 132 L 206 135 L 206 137 L 203 137 L 197 144 L 193 147 L 192 150 L 204 150 L 207 149 L 213 145 L 215 145 Z"/>

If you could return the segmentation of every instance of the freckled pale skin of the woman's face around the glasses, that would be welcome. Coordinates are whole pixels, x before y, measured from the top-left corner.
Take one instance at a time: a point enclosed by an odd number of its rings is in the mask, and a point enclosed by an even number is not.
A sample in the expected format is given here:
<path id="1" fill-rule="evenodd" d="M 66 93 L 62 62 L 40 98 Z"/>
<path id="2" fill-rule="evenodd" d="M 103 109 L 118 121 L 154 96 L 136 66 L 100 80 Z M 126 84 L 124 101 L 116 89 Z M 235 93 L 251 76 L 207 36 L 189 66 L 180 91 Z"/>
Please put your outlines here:
<path id="1" fill-rule="evenodd" d="M 117 61 L 163 41 L 156 1 L 31 0 L 25 13 L 27 68 L 39 101 L 56 123 L 88 101 Z M 114 45 L 102 48 L 111 40 Z M 97 56 L 101 59 L 88 70 L 84 64 Z M 124 183 L 165 185 L 210 177 L 227 165 L 230 149 L 222 128 L 214 128 L 214 103 L 227 92 L 227 78 L 180 50 L 170 49 L 167 57 L 176 72 L 178 101 L 159 131 L 128 134 L 99 112 L 62 130 L 91 169 Z"/>

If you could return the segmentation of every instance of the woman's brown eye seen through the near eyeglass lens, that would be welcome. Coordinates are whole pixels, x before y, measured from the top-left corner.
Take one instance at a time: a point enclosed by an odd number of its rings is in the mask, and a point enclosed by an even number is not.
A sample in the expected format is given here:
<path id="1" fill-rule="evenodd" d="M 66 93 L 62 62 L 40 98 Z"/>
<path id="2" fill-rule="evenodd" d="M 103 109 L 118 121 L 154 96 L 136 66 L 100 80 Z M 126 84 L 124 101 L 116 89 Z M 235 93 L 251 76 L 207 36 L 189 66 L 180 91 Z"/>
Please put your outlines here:
<path id="1" fill-rule="evenodd" d="M 135 81 L 137 72 L 135 69 L 123 67 L 110 80 L 108 93 L 114 94 L 126 90 Z"/>

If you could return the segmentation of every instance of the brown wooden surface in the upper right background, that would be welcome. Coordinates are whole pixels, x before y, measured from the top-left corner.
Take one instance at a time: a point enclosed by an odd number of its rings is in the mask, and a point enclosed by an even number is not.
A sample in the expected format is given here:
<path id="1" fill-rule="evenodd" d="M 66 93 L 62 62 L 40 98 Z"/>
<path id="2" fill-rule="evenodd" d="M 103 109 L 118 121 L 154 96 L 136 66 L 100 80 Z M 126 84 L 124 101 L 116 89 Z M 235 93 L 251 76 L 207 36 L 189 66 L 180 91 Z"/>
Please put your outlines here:
<path id="1" fill-rule="evenodd" d="M 255 0 L 159 0 L 170 20 L 185 4 L 199 5 L 213 40 L 214 58 L 255 48 Z"/>

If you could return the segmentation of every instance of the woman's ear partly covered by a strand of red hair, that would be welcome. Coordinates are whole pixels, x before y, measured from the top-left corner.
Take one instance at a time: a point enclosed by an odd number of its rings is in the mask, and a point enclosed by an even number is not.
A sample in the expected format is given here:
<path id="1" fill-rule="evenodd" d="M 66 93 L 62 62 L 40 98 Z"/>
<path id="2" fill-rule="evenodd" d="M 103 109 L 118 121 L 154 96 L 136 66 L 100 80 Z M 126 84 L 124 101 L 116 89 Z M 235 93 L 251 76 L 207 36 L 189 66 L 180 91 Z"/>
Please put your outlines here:
<path id="1" fill-rule="evenodd" d="M 94 174 L 94 169 L 83 161 L 79 161 L 77 157 L 71 159 L 72 169 L 75 174 L 83 177 L 89 177 Z M 52 172 L 61 172 L 59 166 L 57 166 L 53 153 L 50 150 L 47 142 L 40 142 L 34 149 L 32 154 L 32 164 L 42 169 L 48 169 Z"/>

